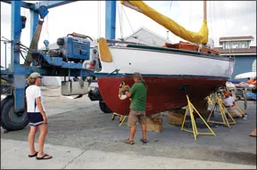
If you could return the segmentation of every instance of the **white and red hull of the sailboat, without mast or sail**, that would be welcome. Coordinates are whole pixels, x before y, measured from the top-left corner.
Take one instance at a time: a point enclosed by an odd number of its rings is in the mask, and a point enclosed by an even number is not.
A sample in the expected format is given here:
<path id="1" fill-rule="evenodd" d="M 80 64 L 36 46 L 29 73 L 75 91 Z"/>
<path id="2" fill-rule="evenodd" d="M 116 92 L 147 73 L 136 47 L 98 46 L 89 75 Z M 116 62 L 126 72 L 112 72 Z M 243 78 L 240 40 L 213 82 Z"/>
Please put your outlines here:
<path id="1" fill-rule="evenodd" d="M 129 114 L 130 104 L 129 99 L 119 98 L 120 83 L 124 81 L 131 87 L 134 72 L 143 75 L 148 87 L 149 115 L 186 106 L 186 93 L 179 90 L 181 85 L 187 85 L 191 101 L 203 101 L 215 88 L 225 85 L 234 69 L 235 60 L 228 57 L 134 47 L 110 47 L 112 62 L 101 61 L 103 68 L 95 73 L 105 104 L 120 115 Z M 115 69 L 118 73 L 113 72 Z"/>

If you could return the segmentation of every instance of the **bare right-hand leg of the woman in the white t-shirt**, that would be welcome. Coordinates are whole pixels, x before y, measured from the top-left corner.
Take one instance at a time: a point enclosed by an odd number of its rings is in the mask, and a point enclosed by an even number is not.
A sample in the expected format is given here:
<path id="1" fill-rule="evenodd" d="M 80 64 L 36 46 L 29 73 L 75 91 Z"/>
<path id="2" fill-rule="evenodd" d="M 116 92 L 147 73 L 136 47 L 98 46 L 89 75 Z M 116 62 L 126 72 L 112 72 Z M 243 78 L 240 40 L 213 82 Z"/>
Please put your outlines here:
<path id="1" fill-rule="evenodd" d="M 38 137 L 38 153 L 37 153 L 37 157 L 41 158 L 45 155 L 44 153 L 44 144 L 45 144 L 45 140 L 46 140 L 46 134 L 47 134 L 47 125 L 46 124 L 42 124 L 42 125 L 38 125 L 40 134 Z"/>

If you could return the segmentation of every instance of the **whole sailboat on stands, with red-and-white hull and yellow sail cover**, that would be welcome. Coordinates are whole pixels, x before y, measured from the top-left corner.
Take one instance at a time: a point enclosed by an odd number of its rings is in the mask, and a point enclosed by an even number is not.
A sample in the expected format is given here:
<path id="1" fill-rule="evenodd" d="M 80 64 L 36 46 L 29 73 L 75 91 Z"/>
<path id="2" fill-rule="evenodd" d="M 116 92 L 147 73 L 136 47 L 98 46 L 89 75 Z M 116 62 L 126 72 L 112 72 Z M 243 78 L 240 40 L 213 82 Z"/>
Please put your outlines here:
<path id="1" fill-rule="evenodd" d="M 146 115 L 187 105 L 187 85 L 191 101 L 200 102 L 231 77 L 235 58 L 220 56 L 205 46 L 208 42 L 206 2 L 203 1 L 203 26 L 198 33 L 189 31 L 141 1 L 122 1 L 121 4 L 142 12 L 175 35 L 191 43 L 179 42 L 163 47 L 150 45 L 108 44 L 98 39 L 98 53 L 102 69 L 95 73 L 101 96 L 109 109 L 120 115 L 129 114 L 129 99 L 122 98 L 123 85 L 131 87 L 132 75 L 143 75 L 148 91 Z"/>

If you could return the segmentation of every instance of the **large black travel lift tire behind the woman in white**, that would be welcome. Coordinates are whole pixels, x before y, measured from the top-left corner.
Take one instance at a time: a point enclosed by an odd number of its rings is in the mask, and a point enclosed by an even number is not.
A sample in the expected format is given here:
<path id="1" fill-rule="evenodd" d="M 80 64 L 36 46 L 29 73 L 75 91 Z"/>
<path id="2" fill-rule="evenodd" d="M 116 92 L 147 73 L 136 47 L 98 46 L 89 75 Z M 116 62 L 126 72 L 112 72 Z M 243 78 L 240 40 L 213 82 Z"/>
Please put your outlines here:
<path id="1" fill-rule="evenodd" d="M 1 126 L 7 131 L 21 130 L 29 124 L 27 112 L 14 111 L 14 98 L 7 96 L 1 101 Z"/>

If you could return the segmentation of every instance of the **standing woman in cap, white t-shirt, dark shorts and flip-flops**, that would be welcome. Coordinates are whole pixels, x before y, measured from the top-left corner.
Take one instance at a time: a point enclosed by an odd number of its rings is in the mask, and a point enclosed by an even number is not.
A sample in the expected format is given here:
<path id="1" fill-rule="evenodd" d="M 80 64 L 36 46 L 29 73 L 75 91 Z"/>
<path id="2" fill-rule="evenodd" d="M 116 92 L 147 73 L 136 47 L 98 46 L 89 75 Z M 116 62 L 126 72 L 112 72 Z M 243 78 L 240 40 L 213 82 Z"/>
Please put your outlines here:
<path id="1" fill-rule="evenodd" d="M 52 158 L 44 153 L 44 144 L 47 134 L 47 118 L 43 96 L 41 94 L 41 75 L 37 72 L 31 73 L 28 78 L 29 86 L 26 88 L 27 113 L 29 119 L 29 158 L 36 157 L 39 160 Z M 39 129 L 38 150 L 35 150 L 35 135 Z"/>

